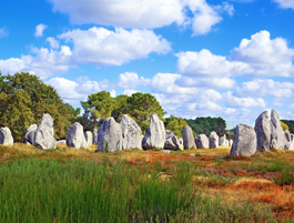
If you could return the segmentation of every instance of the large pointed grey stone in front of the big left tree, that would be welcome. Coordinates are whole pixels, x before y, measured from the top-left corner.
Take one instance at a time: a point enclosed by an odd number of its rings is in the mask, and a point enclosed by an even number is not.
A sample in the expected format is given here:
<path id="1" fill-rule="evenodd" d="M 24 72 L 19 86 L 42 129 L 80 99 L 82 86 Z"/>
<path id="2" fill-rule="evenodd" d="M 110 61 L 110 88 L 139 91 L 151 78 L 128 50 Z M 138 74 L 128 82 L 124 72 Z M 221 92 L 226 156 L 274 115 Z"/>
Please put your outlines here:
<path id="1" fill-rule="evenodd" d="M 50 114 L 43 114 L 39 126 L 34 131 L 33 145 L 42 150 L 55 149 L 57 140 L 53 135 L 53 119 Z"/>

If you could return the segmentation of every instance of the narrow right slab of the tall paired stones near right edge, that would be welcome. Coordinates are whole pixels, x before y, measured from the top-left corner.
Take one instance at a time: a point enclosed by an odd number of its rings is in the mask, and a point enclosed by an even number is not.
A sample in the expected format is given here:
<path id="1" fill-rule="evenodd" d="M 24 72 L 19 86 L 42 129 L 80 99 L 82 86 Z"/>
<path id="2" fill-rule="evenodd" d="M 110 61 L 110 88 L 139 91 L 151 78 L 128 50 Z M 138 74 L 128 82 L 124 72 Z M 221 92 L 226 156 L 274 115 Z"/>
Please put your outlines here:
<path id="1" fill-rule="evenodd" d="M 271 113 L 271 122 L 272 122 L 272 125 L 271 125 L 272 132 L 271 132 L 270 148 L 283 150 L 285 149 L 286 139 L 285 139 L 284 131 L 281 126 L 278 114 L 273 109 Z"/>

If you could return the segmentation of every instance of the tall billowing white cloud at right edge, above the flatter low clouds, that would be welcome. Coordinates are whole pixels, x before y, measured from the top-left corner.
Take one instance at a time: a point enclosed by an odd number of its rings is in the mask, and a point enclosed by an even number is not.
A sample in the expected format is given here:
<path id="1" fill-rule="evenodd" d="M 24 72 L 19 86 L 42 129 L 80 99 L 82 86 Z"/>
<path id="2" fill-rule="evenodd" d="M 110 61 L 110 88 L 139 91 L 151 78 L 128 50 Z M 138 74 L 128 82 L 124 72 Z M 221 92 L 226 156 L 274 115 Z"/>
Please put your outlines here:
<path id="1" fill-rule="evenodd" d="M 256 77 L 291 77 L 294 74 L 292 59 L 294 49 L 283 38 L 271 40 L 268 31 L 260 31 L 251 39 L 243 39 L 239 48 L 231 51 L 231 61 L 246 63 Z"/>

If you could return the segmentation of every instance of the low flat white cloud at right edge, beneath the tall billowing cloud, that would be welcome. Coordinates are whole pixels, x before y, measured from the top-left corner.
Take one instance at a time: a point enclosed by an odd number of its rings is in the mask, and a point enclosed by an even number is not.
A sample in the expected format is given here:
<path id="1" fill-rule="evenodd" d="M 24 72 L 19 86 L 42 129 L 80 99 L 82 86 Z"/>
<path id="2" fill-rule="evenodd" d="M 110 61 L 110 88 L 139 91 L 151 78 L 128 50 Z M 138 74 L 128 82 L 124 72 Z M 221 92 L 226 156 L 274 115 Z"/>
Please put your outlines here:
<path id="1" fill-rule="evenodd" d="M 237 97 L 273 97 L 276 99 L 288 99 L 293 95 L 292 82 L 277 82 L 272 79 L 254 79 L 253 81 L 243 82 L 242 88 L 236 88 L 235 95 Z"/>

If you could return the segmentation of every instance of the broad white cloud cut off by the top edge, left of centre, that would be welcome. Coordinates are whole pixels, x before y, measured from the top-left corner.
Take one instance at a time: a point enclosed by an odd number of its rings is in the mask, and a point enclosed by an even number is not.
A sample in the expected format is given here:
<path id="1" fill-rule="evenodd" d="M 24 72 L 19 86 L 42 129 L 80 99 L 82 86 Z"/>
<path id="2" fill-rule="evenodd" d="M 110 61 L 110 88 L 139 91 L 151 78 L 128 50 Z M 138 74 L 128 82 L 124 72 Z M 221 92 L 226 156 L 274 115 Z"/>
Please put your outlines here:
<path id="1" fill-rule="evenodd" d="M 78 24 L 154 29 L 176 23 L 182 27 L 191 26 L 193 36 L 210 32 L 222 20 L 220 13 L 234 13 L 233 6 L 227 2 L 210 6 L 205 0 L 50 1 L 53 3 L 53 11 L 69 14 L 70 21 Z"/>

